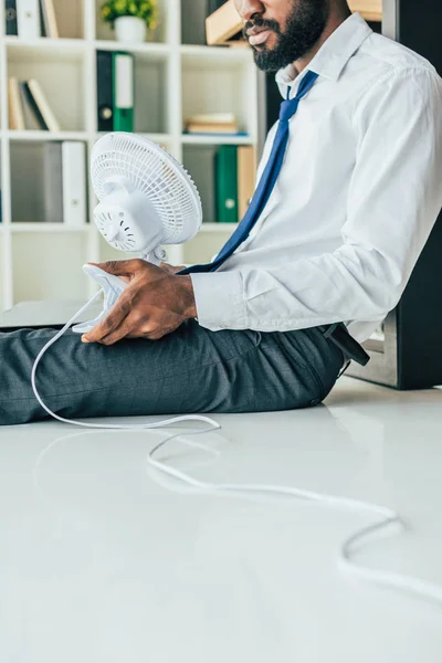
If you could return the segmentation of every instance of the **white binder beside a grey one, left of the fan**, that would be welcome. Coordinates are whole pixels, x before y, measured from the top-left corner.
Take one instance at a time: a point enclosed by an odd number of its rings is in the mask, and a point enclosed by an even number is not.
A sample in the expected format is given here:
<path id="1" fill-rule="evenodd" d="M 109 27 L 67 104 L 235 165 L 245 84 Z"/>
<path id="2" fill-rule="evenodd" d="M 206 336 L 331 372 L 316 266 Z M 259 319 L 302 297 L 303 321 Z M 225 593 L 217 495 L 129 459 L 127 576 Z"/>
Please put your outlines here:
<path id="1" fill-rule="evenodd" d="M 86 223 L 86 146 L 84 143 L 62 143 L 63 221 L 78 228 Z"/>

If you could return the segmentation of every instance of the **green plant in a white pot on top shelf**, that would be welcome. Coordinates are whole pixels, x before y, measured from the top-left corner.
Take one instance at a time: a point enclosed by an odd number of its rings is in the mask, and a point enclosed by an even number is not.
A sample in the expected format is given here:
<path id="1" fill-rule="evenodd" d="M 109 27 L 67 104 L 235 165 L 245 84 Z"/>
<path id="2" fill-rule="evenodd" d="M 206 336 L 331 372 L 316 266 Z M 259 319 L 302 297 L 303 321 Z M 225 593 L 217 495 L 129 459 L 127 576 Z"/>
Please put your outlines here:
<path id="1" fill-rule="evenodd" d="M 157 0 L 106 0 L 101 15 L 115 30 L 118 41 L 139 44 L 146 39 L 146 30 L 157 28 Z"/>

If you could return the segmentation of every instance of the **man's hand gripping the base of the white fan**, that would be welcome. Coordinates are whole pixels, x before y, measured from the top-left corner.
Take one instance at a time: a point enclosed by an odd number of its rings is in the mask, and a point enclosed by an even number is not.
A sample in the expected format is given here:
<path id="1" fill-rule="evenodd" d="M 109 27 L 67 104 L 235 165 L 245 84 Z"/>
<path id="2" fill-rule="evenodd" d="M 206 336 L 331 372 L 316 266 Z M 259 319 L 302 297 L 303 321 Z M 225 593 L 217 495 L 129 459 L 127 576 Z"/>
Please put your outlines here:
<path id="1" fill-rule="evenodd" d="M 96 266 L 122 276 L 128 285 L 107 316 L 82 337 L 83 343 L 113 345 L 122 338 L 158 340 L 188 318 L 197 317 L 190 276 L 177 276 L 144 260 Z"/>

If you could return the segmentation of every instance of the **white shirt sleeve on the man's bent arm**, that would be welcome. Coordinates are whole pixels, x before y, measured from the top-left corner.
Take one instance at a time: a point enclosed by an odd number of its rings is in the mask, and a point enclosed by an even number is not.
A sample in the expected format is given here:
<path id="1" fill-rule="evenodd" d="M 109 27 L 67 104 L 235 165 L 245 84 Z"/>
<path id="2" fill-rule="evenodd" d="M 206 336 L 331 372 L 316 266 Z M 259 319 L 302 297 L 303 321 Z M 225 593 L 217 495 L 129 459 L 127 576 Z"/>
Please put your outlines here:
<path id="1" fill-rule="evenodd" d="M 442 206 L 441 80 L 391 70 L 356 102 L 354 123 L 343 245 L 274 269 L 192 274 L 200 325 L 286 332 L 394 308 Z"/>

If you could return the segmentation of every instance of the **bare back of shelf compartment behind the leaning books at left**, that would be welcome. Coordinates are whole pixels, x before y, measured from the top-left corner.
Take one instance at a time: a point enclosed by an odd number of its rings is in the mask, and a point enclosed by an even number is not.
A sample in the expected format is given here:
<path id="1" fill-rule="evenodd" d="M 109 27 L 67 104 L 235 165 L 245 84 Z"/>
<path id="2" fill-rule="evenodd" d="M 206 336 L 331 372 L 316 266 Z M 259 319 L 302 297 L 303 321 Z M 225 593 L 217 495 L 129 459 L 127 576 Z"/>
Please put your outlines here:
<path id="1" fill-rule="evenodd" d="M 84 131 L 87 106 L 85 61 L 83 48 L 56 50 L 51 45 L 33 50 L 31 46 L 8 46 L 8 76 L 39 81 L 62 131 Z"/>

